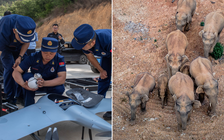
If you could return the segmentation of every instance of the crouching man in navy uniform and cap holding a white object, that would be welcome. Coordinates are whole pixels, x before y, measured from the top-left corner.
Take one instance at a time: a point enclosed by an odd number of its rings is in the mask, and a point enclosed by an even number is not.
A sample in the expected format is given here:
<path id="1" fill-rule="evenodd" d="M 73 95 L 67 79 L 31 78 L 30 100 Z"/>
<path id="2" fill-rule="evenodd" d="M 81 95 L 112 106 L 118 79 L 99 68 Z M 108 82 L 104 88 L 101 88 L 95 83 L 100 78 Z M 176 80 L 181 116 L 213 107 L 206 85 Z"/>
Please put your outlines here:
<path id="1" fill-rule="evenodd" d="M 58 41 L 55 38 L 45 37 L 42 39 L 41 51 L 32 53 L 25 58 L 13 71 L 13 78 L 23 87 L 25 107 L 34 104 L 35 91 L 56 93 L 62 95 L 65 88 L 66 68 L 64 57 L 57 53 Z M 26 72 L 31 67 L 31 73 Z M 42 75 L 38 79 L 38 89 L 28 86 L 28 80 L 35 73 Z"/>

